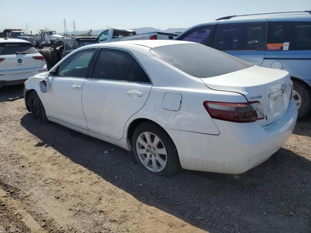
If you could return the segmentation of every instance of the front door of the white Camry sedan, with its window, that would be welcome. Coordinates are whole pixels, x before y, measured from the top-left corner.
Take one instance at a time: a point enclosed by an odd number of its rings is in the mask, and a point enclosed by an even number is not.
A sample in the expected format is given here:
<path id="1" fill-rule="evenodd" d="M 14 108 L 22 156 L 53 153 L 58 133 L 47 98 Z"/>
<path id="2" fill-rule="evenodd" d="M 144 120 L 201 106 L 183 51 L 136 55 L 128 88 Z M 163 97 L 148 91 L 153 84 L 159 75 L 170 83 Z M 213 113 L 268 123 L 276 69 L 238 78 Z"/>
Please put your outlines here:
<path id="1" fill-rule="evenodd" d="M 86 129 L 82 109 L 82 87 L 96 48 L 75 52 L 50 75 L 50 91 L 44 95 L 48 117 Z M 53 73 L 53 72 L 52 72 Z"/>

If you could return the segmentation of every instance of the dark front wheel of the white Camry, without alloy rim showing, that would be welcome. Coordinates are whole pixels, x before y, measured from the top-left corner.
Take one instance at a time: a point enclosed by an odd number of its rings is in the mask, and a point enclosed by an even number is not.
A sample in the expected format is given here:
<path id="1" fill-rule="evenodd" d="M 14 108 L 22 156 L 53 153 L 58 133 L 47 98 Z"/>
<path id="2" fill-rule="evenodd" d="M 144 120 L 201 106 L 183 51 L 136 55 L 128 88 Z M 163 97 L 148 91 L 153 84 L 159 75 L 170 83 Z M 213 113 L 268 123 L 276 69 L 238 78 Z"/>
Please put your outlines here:
<path id="1" fill-rule="evenodd" d="M 30 108 L 31 116 L 38 122 L 48 123 L 43 104 L 35 91 L 30 93 L 27 104 Z"/>

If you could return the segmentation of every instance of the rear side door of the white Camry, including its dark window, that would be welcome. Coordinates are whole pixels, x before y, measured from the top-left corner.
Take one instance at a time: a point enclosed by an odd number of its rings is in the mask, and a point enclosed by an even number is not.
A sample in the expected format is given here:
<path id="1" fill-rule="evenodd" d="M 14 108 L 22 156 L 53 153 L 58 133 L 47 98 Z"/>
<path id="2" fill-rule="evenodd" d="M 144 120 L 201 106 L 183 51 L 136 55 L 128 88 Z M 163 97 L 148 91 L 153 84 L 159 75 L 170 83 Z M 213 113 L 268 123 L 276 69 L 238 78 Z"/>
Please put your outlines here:
<path id="1" fill-rule="evenodd" d="M 126 121 L 148 99 L 152 83 L 125 50 L 99 50 L 91 70 L 82 92 L 87 129 L 120 140 Z"/>

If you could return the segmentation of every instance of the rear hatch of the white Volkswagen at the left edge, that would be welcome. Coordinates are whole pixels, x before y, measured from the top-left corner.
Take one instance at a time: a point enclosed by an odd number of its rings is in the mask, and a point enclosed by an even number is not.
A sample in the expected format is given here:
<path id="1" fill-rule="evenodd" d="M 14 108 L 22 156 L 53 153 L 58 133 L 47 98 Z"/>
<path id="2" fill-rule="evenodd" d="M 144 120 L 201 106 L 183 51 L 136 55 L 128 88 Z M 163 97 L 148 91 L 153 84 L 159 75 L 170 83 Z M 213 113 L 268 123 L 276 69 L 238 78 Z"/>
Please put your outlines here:
<path id="1" fill-rule="evenodd" d="M 45 62 L 34 59 L 34 56 L 41 56 L 41 54 L 30 43 L 1 43 L 0 58 L 4 60 L 0 62 L 0 71 L 43 67 Z"/>

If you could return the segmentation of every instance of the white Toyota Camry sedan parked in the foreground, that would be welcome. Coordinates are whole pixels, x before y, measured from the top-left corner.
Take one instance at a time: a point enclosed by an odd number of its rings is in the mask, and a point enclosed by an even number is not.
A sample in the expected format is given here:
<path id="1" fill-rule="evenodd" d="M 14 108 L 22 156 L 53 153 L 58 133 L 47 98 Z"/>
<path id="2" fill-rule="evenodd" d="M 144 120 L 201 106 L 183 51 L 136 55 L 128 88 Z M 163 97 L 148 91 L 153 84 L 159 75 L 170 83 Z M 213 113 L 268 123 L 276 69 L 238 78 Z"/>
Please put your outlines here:
<path id="1" fill-rule="evenodd" d="M 35 120 L 133 150 L 170 176 L 180 167 L 239 174 L 280 149 L 297 106 L 286 71 L 186 41 L 126 41 L 73 51 L 29 78 Z"/>

